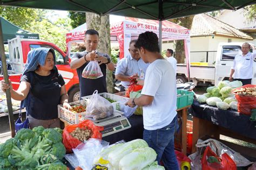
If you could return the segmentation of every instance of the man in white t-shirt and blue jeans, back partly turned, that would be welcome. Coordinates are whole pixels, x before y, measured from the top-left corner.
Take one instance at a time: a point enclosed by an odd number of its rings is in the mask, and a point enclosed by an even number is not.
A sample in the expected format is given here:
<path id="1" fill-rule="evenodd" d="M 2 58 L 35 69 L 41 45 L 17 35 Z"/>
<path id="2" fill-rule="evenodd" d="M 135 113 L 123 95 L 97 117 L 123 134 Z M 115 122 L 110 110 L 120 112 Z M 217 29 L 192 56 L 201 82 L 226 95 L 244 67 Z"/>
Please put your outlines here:
<path id="1" fill-rule="evenodd" d="M 126 105 L 143 106 L 143 139 L 157 152 L 158 164 L 179 169 L 174 153 L 174 132 L 178 128 L 176 112 L 176 75 L 170 63 L 161 56 L 156 33 L 144 32 L 135 45 L 147 67 L 142 96 Z"/>

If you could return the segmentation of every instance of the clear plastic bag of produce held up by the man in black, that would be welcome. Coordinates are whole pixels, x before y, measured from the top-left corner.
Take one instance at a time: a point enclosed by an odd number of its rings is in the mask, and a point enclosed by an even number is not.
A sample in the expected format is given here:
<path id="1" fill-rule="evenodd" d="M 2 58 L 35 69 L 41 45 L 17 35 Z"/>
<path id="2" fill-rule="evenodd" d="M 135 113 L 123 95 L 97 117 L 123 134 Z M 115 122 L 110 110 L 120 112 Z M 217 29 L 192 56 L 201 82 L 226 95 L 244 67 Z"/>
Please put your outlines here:
<path id="1" fill-rule="evenodd" d="M 83 70 L 82 77 L 89 79 L 97 79 L 103 76 L 97 61 L 90 61 Z"/>

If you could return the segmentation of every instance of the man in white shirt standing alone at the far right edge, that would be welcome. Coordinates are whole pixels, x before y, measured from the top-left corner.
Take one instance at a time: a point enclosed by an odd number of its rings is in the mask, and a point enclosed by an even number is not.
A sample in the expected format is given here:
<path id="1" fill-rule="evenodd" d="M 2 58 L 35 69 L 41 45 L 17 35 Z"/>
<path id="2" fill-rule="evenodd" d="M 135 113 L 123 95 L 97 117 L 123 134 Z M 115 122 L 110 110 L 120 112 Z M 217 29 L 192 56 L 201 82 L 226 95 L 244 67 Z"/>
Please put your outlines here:
<path id="1" fill-rule="evenodd" d="M 242 44 L 242 53 L 239 53 L 234 58 L 233 66 L 231 67 L 230 81 L 242 81 L 242 85 L 251 84 L 253 77 L 253 62 L 256 57 L 256 51 L 249 52 L 251 45 L 249 43 Z"/>

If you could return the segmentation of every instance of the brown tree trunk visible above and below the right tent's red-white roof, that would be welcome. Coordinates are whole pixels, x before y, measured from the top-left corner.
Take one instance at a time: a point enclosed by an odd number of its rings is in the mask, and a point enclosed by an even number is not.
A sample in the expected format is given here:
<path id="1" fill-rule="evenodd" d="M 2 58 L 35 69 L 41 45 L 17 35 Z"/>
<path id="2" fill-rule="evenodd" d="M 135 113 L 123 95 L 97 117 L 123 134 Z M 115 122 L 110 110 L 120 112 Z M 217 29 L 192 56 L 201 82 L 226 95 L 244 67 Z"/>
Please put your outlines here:
<path id="1" fill-rule="evenodd" d="M 187 29 L 191 29 L 193 23 L 194 16 L 170 19 L 171 22 L 184 26 Z M 184 40 L 176 40 L 174 41 L 175 45 L 175 57 L 177 63 L 184 63 L 185 62 L 185 50 L 184 50 Z"/>

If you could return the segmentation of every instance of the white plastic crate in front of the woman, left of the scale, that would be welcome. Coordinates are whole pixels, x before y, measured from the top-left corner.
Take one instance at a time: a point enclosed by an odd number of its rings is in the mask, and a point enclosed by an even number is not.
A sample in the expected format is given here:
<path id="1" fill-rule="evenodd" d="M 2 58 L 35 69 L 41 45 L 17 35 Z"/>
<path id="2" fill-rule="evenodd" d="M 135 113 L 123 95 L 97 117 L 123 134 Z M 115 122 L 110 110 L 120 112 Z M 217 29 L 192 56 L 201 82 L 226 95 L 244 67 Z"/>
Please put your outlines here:
<path id="1" fill-rule="evenodd" d="M 86 106 L 87 105 L 87 101 L 86 100 L 80 100 L 80 101 L 75 101 L 72 103 L 69 103 L 70 106 L 79 106 L 79 105 L 83 105 Z M 58 117 L 64 119 L 65 121 L 67 121 L 69 124 L 73 125 L 73 124 L 78 124 L 81 121 L 85 120 L 85 114 L 86 112 L 82 112 L 82 113 L 73 113 L 71 111 L 69 111 L 68 109 L 64 108 L 62 105 L 58 105 Z"/>

